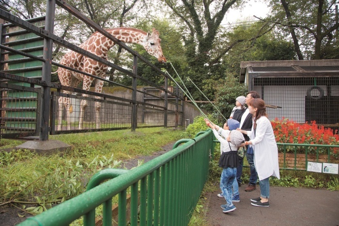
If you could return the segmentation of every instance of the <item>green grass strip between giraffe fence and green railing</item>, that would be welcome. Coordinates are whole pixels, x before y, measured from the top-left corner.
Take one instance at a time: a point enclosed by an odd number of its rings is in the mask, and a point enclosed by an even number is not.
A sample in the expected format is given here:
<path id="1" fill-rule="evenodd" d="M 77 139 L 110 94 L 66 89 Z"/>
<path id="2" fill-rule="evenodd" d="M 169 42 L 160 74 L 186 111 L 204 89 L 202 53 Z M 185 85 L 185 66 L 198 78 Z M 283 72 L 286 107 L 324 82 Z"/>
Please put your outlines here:
<path id="1" fill-rule="evenodd" d="M 97 171 L 120 167 L 121 161 L 149 156 L 162 146 L 185 137 L 183 130 L 145 128 L 49 136 L 72 146 L 65 153 L 40 156 L 19 149 L 0 152 L 0 206 L 15 204 L 38 214 L 81 194 Z M 20 140 L 0 140 L 0 149 L 13 148 Z"/>

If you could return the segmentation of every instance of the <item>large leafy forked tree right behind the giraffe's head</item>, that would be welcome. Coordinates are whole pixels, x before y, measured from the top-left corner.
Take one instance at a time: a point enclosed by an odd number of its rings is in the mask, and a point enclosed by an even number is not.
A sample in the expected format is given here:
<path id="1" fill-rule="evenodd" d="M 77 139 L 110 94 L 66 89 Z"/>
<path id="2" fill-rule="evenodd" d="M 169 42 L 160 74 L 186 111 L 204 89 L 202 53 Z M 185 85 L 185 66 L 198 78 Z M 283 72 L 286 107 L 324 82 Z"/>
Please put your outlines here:
<path id="1" fill-rule="evenodd" d="M 263 25 L 260 30 L 253 32 L 246 39 L 233 39 L 232 42 L 220 39 L 224 30 L 220 27 L 225 14 L 230 7 L 240 7 L 241 0 L 163 0 L 170 8 L 170 19 L 182 30 L 185 44 L 185 57 L 189 70 L 185 77 L 189 77 L 200 89 L 206 85 L 206 80 L 215 78 L 212 71 L 220 70 L 222 58 L 228 51 L 239 43 L 246 40 L 254 40 L 268 30 L 268 25 Z M 264 23 L 262 23 L 264 24 Z M 272 27 L 272 25 L 271 25 Z M 223 78 L 224 73 L 220 72 Z M 220 77 L 219 77 L 220 78 Z M 188 90 L 194 99 L 204 99 L 194 85 L 188 83 Z M 213 94 L 207 95 L 207 97 Z"/>

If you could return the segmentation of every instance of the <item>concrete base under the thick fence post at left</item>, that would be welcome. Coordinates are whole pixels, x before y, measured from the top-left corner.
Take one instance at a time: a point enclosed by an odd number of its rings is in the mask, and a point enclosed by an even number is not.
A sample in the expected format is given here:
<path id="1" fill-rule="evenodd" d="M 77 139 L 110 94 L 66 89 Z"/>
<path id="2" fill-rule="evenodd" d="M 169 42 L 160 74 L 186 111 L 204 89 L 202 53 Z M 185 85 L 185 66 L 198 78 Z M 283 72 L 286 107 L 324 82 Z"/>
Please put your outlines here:
<path id="1" fill-rule="evenodd" d="M 50 155 L 59 152 L 65 152 L 71 150 L 71 145 L 67 145 L 61 141 L 50 140 L 50 141 L 27 141 L 21 145 L 15 147 L 15 149 L 29 149 L 33 150 L 38 154 Z"/>

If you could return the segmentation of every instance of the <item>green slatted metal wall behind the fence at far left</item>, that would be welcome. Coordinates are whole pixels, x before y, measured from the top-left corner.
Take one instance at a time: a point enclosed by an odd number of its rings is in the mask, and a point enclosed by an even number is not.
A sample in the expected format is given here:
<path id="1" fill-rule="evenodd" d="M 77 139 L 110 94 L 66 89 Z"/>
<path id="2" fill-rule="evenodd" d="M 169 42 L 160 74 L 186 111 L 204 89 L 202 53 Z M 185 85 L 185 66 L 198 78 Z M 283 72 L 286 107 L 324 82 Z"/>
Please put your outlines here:
<path id="1" fill-rule="evenodd" d="M 35 26 L 44 28 L 45 16 L 36 17 L 27 20 Z M 7 24 L 8 25 L 8 24 Z M 8 31 L 8 32 L 5 32 Z M 25 53 L 42 57 L 44 48 L 44 39 L 40 36 L 28 32 L 18 26 L 4 26 L 3 35 L 8 36 L 5 43 L 1 43 L 10 48 Z M 2 70 L 6 73 L 22 76 L 25 78 L 41 79 L 42 62 L 11 51 L 2 51 L 2 55 L 7 58 L 3 65 L 7 68 Z M 30 87 L 30 84 L 18 81 L 8 81 L 8 84 Z M 39 86 L 35 86 L 39 88 Z M 38 93 L 29 91 L 29 89 L 6 89 L 1 92 L 1 100 L 6 101 L 5 117 L 2 120 L 5 125 L 2 127 L 2 133 L 26 133 L 37 132 L 37 111 L 38 111 Z M 38 134 L 38 133 L 37 133 Z"/>

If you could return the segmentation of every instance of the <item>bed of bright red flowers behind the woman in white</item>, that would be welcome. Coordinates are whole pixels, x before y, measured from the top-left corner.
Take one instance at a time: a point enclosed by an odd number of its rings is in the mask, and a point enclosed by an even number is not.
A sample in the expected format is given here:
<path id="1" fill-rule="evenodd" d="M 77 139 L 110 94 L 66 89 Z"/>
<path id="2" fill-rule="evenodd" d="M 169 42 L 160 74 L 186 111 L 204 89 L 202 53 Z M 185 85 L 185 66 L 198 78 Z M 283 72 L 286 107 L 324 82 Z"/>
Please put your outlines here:
<path id="1" fill-rule="evenodd" d="M 299 124 L 292 120 L 277 118 L 271 121 L 277 143 L 311 144 L 311 145 L 339 145 L 339 135 L 336 130 L 318 126 L 315 121 L 310 124 Z M 308 147 L 308 153 L 316 154 L 317 147 Z M 293 151 L 294 147 L 287 148 Z M 280 150 L 281 151 L 281 150 Z M 327 154 L 327 148 L 318 148 L 319 154 Z M 331 155 L 339 157 L 339 148 L 330 148 Z M 305 147 L 298 146 L 297 153 L 305 153 Z"/>

